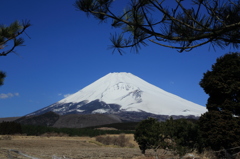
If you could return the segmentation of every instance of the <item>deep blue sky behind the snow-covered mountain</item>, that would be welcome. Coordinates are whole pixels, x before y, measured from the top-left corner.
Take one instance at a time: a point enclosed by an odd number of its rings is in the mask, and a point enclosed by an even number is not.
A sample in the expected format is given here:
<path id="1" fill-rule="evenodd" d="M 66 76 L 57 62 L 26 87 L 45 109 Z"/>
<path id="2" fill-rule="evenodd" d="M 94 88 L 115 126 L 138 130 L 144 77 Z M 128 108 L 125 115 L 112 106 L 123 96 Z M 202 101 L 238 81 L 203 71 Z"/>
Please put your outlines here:
<path id="1" fill-rule="evenodd" d="M 149 43 L 138 54 L 123 56 L 108 49 L 109 23 L 101 23 L 73 7 L 75 0 L 1 0 L 1 24 L 30 20 L 24 47 L 0 57 L 7 73 L 0 87 L 0 117 L 23 116 L 51 105 L 110 72 L 130 72 L 170 93 L 205 106 L 208 96 L 199 86 L 203 73 L 230 50 L 191 52 Z M 118 5 L 126 0 L 116 1 Z M 170 1 L 169 1 L 170 2 Z"/>

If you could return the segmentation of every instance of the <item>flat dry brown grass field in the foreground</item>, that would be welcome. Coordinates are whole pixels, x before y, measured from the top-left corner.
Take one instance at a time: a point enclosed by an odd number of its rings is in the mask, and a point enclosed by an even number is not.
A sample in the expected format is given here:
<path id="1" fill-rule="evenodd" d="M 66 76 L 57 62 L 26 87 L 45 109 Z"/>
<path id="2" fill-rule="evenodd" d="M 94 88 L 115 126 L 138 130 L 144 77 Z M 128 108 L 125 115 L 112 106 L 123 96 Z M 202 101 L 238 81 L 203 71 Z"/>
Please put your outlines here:
<path id="1" fill-rule="evenodd" d="M 0 159 L 27 159 L 24 155 L 33 159 L 145 158 L 134 143 L 133 136 L 128 137 L 135 147 L 106 146 L 90 137 L 1 136 Z"/>

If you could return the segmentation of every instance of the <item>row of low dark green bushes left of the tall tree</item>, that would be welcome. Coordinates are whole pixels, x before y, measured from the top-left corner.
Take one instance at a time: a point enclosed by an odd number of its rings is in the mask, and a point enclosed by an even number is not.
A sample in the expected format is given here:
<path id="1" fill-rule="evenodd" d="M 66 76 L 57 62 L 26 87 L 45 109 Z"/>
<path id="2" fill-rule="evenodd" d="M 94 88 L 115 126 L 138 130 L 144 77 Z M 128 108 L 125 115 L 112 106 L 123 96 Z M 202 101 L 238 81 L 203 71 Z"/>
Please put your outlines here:
<path id="1" fill-rule="evenodd" d="M 134 134 L 139 148 L 144 153 L 146 149 L 158 148 L 172 150 L 179 155 L 201 149 L 199 127 L 186 119 L 158 122 L 149 118 L 139 123 Z"/>

